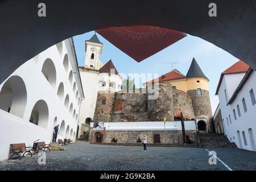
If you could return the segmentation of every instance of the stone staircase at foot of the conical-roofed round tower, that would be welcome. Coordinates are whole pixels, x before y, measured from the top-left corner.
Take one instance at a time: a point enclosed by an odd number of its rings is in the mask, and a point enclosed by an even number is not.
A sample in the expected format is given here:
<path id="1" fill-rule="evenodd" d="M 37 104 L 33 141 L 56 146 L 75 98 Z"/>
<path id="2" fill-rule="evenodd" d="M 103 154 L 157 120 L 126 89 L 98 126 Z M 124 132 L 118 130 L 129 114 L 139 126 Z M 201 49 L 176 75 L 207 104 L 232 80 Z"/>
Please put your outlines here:
<path id="1" fill-rule="evenodd" d="M 224 134 L 200 133 L 196 139 L 201 148 L 237 148 L 236 143 L 230 142 Z"/>

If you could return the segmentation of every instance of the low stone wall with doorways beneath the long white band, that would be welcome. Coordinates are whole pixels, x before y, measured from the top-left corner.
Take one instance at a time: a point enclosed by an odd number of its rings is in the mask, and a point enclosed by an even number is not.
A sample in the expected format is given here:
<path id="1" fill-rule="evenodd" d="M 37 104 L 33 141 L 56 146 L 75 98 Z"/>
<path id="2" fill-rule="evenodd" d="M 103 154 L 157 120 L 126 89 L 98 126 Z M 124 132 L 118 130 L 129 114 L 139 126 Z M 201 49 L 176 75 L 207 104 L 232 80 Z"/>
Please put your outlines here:
<path id="1" fill-rule="evenodd" d="M 95 143 L 95 134 L 99 131 L 92 131 L 90 134 L 89 142 Z M 147 143 L 154 143 L 154 134 L 160 135 L 160 144 L 183 144 L 182 131 L 101 131 L 103 140 L 102 143 L 111 143 L 111 139 L 114 137 L 118 140 L 117 143 L 137 143 L 138 137 L 147 135 Z M 195 142 L 196 131 L 186 131 L 186 135 L 189 136 L 192 142 Z"/>

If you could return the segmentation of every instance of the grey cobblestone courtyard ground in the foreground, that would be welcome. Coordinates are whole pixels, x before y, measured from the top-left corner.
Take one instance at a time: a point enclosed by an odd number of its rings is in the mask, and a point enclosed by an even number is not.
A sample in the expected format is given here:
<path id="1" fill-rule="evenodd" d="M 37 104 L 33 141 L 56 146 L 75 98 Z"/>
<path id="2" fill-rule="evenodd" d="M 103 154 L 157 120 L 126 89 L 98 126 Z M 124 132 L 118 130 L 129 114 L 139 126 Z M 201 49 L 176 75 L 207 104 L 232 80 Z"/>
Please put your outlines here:
<path id="1" fill-rule="evenodd" d="M 208 163 L 204 148 L 108 146 L 77 141 L 65 151 L 46 152 L 46 164 L 39 156 L 0 162 L 0 170 L 228 170 L 219 160 Z M 237 148 L 211 148 L 233 170 L 256 170 L 256 152 Z"/>

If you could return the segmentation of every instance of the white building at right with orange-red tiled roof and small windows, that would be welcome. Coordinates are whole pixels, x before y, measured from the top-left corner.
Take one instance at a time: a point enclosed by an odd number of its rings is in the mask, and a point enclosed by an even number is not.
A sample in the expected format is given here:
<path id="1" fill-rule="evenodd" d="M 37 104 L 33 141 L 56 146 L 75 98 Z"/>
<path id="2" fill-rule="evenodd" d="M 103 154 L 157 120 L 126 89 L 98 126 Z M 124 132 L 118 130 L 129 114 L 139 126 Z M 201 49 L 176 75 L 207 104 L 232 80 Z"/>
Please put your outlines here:
<path id="1" fill-rule="evenodd" d="M 224 133 L 238 148 L 256 151 L 256 73 L 243 61 L 222 72 L 216 94 Z"/>

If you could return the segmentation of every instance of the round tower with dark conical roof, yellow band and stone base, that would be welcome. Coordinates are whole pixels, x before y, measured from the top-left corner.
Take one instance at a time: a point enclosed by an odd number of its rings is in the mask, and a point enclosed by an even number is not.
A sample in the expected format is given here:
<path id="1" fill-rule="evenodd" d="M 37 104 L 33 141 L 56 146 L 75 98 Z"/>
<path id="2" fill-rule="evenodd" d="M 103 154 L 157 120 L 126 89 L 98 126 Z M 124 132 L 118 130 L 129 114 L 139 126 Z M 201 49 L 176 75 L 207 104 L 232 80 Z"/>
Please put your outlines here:
<path id="1" fill-rule="evenodd" d="M 197 131 L 212 131 L 210 121 L 212 119 L 212 107 L 208 89 L 209 79 L 197 64 L 195 58 L 188 69 L 186 80 L 187 93 L 191 96 L 195 113 Z"/>

